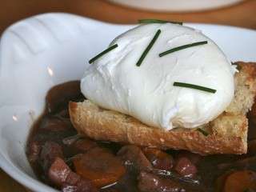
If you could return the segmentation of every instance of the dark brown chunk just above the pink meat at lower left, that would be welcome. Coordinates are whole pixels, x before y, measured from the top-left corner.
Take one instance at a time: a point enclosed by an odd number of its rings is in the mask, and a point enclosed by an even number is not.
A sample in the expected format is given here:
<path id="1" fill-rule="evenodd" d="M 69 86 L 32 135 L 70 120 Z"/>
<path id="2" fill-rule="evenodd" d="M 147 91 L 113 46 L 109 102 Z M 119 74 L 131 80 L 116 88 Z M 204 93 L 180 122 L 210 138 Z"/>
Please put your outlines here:
<path id="1" fill-rule="evenodd" d="M 55 158 L 63 158 L 62 146 L 56 142 L 46 142 L 40 154 L 40 164 L 43 170 L 47 172 Z"/>

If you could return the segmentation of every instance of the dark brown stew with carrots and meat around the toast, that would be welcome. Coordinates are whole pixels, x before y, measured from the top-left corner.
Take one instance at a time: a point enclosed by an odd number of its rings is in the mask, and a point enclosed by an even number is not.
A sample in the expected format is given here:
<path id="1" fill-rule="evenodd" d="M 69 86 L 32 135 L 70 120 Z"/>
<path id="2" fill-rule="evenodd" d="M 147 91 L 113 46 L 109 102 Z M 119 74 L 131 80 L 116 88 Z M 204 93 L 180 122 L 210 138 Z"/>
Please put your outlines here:
<path id="1" fill-rule="evenodd" d="M 200 156 L 82 137 L 67 104 L 83 99 L 79 82 L 47 94 L 45 113 L 34 124 L 26 150 L 42 182 L 65 192 L 256 191 L 254 110 L 248 115 L 248 154 Z"/>

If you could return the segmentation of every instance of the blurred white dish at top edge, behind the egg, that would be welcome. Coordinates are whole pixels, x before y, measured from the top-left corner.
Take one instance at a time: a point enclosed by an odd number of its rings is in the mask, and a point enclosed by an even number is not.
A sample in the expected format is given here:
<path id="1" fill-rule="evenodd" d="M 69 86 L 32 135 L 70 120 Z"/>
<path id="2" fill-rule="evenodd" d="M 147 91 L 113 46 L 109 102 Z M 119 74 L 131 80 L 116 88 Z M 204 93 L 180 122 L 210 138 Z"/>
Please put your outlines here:
<path id="1" fill-rule="evenodd" d="M 197 11 L 231 6 L 243 0 L 109 0 L 122 6 L 154 11 Z"/>

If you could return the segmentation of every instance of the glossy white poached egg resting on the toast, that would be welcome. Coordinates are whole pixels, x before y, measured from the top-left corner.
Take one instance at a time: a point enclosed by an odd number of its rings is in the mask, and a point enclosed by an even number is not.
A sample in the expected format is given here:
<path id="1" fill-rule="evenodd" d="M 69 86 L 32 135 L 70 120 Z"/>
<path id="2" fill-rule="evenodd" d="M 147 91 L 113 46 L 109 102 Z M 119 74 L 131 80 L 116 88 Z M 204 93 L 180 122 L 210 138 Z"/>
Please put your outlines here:
<path id="1" fill-rule="evenodd" d="M 136 66 L 161 30 L 141 66 Z M 178 46 L 207 44 L 159 54 Z M 98 106 L 128 114 L 165 130 L 194 128 L 217 118 L 234 97 L 234 67 L 222 50 L 198 30 L 171 23 L 142 24 L 119 35 L 118 44 L 86 69 L 82 94 Z M 174 82 L 190 83 L 215 93 Z"/>

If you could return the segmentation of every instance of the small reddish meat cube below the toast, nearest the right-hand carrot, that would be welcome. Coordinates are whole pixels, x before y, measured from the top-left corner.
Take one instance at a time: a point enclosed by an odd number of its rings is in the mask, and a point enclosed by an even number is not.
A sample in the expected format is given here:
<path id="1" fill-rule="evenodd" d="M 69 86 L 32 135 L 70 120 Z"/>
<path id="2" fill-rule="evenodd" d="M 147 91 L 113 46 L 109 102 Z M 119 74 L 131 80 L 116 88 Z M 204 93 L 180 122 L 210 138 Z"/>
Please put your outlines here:
<path id="1" fill-rule="evenodd" d="M 174 170 L 176 170 L 178 174 L 186 177 L 194 177 L 194 175 L 198 172 L 197 167 L 190 162 L 190 159 L 183 157 L 178 158 Z"/>

